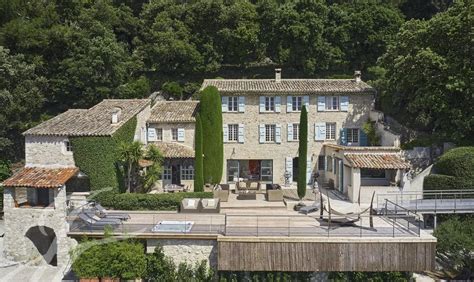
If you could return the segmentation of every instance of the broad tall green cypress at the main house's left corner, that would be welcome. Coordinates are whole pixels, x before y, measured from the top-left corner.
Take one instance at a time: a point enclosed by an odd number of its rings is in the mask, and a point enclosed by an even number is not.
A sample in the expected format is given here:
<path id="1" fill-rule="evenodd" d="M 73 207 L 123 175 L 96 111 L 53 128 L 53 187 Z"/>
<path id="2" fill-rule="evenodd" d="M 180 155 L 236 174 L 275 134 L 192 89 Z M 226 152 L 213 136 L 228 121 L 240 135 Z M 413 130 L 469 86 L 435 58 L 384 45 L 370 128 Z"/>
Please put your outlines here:
<path id="1" fill-rule="evenodd" d="M 224 165 L 224 142 L 221 96 L 216 87 L 208 86 L 201 92 L 200 113 L 204 182 L 218 184 L 222 178 Z"/>

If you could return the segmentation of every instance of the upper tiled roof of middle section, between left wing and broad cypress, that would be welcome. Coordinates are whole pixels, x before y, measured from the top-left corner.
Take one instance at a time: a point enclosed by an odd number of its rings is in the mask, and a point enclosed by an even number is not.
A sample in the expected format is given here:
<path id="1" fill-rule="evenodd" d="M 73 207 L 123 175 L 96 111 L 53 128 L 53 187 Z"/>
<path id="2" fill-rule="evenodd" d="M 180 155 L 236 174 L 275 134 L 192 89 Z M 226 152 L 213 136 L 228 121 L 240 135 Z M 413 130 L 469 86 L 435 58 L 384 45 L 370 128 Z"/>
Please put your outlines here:
<path id="1" fill-rule="evenodd" d="M 151 109 L 148 122 L 195 122 L 199 101 L 160 101 Z"/>

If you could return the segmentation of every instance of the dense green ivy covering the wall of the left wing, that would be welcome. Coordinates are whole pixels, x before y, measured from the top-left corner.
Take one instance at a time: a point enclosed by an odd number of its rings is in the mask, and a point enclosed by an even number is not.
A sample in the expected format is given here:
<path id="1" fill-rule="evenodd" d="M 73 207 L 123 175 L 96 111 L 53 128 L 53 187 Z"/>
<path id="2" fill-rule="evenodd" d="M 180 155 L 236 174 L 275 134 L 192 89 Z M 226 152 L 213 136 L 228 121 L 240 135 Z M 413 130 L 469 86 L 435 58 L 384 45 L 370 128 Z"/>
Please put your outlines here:
<path id="1" fill-rule="evenodd" d="M 123 173 L 118 162 L 118 146 L 121 142 L 133 142 L 137 118 L 122 125 L 112 136 L 72 137 L 74 162 L 85 173 L 91 190 L 112 187 L 123 191 Z"/>

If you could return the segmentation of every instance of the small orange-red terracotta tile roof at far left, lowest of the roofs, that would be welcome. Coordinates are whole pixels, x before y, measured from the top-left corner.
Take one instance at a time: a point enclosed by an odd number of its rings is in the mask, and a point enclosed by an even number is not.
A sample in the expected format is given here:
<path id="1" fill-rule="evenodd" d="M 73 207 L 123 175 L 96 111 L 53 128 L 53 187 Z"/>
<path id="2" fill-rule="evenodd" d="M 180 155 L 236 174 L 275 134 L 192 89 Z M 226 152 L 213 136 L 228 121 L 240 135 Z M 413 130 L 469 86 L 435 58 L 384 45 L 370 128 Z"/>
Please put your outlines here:
<path id="1" fill-rule="evenodd" d="M 63 186 L 79 172 L 77 167 L 25 167 L 3 182 L 7 187 L 56 188 Z"/>

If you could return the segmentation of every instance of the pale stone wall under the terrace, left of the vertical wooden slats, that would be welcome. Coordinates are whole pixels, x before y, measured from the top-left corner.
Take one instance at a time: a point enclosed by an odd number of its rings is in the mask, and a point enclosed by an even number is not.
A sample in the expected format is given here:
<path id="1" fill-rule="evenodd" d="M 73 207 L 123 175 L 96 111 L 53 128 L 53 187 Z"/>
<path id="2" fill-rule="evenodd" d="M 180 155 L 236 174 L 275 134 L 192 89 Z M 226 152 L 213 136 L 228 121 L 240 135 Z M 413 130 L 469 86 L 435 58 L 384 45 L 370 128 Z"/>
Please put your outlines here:
<path id="1" fill-rule="evenodd" d="M 211 267 L 217 266 L 216 240 L 148 239 L 147 253 L 154 252 L 157 245 L 163 247 L 165 255 L 172 258 L 176 265 L 182 262 L 195 265 L 206 260 Z"/>

